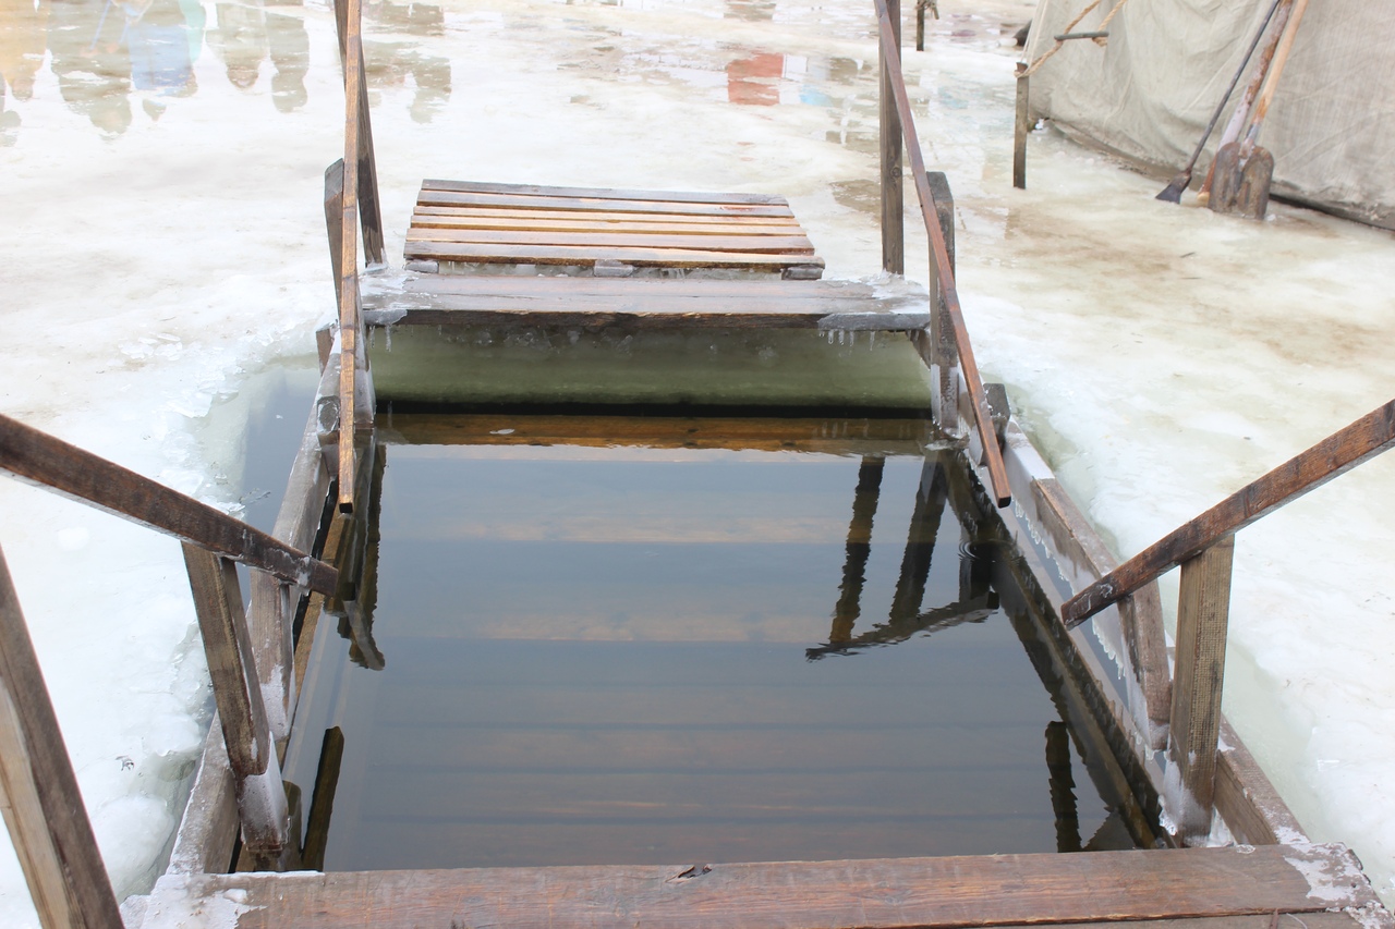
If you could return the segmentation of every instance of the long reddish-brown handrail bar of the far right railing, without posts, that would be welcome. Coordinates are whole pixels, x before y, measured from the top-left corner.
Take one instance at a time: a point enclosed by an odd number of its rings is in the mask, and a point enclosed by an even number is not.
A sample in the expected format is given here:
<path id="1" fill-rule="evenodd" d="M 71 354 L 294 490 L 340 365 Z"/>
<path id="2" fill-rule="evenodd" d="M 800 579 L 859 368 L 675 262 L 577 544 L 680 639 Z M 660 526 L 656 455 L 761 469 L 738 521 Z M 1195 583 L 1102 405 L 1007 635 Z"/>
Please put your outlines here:
<path id="1" fill-rule="evenodd" d="M 1013 491 L 1007 483 L 1007 467 L 1003 464 L 1003 452 L 997 445 L 993 420 L 988 413 L 988 399 L 983 393 L 983 381 L 978 372 L 978 363 L 974 360 L 974 347 L 970 345 L 968 329 L 964 325 L 964 312 L 960 308 L 958 290 L 954 286 L 954 266 L 950 262 L 944 233 L 940 230 L 940 222 L 935 212 L 935 194 L 930 191 L 930 180 L 925 172 L 921 139 L 917 135 L 915 117 L 911 113 L 911 99 L 905 92 L 905 78 L 901 74 L 901 53 L 897 47 L 896 29 L 891 25 L 886 0 L 873 0 L 873 3 L 876 4 L 876 18 L 882 35 L 882 52 L 886 57 L 886 67 L 891 74 L 891 92 L 896 96 L 897 112 L 901 114 L 901 133 L 905 138 L 905 151 L 911 159 L 911 176 L 915 179 L 915 192 L 921 201 L 921 218 L 925 220 L 925 233 L 930 240 L 930 271 L 936 275 L 944 310 L 950 317 L 950 325 L 954 331 L 954 343 L 958 347 L 964 384 L 968 388 L 970 406 L 974 410 L 974 427 L 978 430 L 979 439 L 983 444 L 983 459 L 988 464 L 988 478 L 993 487 L 993 498 L 999 506 L 1007 506 L 1013 501 Z M 930 300 L 935 300 L 933 292 Z"/>

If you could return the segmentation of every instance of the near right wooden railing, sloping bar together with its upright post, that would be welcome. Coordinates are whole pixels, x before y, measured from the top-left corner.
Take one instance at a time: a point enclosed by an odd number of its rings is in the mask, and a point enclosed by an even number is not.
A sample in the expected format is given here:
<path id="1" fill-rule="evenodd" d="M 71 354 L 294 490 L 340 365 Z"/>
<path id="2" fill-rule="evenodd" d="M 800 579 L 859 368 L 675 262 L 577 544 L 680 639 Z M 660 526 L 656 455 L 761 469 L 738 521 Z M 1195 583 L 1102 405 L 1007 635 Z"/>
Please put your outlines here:
<path id="1" fill-rule="evenodd" d="M 1169 728 L 1172 762 L 1182 773 L 1177 801 L 1184 840 L 1211 831 L 1235 533 L 1392 446 L 1395 400 L 1247 484 L 1062 607 L 1066 626 L 1078 626 L 1182 566 Z"/>

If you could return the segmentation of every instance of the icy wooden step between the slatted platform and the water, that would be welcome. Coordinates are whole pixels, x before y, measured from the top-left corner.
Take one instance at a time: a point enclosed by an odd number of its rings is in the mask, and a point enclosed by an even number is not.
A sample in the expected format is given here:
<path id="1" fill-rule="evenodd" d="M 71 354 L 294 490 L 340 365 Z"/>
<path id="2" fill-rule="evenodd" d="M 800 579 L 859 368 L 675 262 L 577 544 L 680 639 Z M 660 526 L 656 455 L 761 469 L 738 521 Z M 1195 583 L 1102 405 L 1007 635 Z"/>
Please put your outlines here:
<path id="1" fill-rule="evenodd" d="M 382 325 L 820 329 L 905 332 L 929 297 L 834 280 L 685 280 L 412 275 L 368 278 L 364 321 Z"/>

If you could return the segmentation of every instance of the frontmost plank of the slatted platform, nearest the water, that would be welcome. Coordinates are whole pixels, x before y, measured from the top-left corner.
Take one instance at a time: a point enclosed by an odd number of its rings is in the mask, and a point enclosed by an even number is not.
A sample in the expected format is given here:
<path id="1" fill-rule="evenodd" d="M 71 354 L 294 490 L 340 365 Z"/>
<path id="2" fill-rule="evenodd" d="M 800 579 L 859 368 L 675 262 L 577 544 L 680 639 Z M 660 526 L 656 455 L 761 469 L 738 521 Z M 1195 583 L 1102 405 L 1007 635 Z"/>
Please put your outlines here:
<path id="1" fill-rule="evenodd" d="M 409 241 L 407 259 L 434 258 L 478 264 L 590 265 L 601 259 L 631 265 L 667 268 L 755 268 L 776 271 L 788 265 L 823 266 L 823 258 L 808 252 L 762 254 L 684 248 L 594 247 L 582 246 L 469 246 L 453 243 Z"/>

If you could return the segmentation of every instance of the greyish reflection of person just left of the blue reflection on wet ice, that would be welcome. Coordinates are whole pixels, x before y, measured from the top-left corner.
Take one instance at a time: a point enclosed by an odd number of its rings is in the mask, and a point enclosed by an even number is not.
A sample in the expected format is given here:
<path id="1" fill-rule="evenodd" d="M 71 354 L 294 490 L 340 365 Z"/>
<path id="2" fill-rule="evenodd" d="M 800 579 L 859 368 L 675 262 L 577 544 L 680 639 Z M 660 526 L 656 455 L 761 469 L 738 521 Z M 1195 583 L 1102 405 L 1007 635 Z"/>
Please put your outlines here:
<path id="1" fill-rule="evenodd" d="M 52 0 L 50 68 L 59 93 L 106 134 L 131 126 L 131 59 L 121 42 L 124 17 L 103 0 Z"/>

